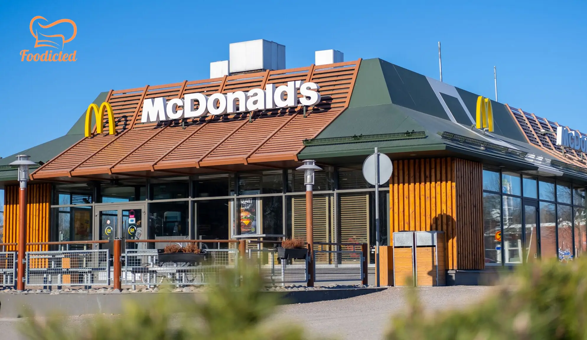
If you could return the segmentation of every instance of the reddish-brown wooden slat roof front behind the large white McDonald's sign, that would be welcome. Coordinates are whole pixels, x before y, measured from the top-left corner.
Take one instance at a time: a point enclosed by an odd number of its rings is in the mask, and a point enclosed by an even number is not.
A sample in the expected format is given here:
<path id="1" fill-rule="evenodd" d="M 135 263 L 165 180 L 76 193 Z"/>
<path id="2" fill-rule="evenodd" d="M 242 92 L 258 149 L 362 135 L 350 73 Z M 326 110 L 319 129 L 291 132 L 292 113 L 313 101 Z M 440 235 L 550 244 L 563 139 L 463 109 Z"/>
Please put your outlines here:
<path id="1" fill-rule="evenodd" d="M 231 164 L 295 161 L 302 141 L 316 137 L 349 105 L 360 60 L 306 68 L 249 73 L 111 90 L 115 135 L 94 134 L 74 144 L 31 174 L 32 179 L 200 168 Z M 141 123 L 146 98 L 187 93 L 228 93 L 285 85 L 292 80 L 318 83 L 321 102 L 235 115 Z M 299 94 L 298 94 L 299 95 Z M 194 107 L 197 109 L 197 104 Z M 94 127 L 94 131 L 96 128 Z M 108 122 L 104 117 L 104 131 Z"/>

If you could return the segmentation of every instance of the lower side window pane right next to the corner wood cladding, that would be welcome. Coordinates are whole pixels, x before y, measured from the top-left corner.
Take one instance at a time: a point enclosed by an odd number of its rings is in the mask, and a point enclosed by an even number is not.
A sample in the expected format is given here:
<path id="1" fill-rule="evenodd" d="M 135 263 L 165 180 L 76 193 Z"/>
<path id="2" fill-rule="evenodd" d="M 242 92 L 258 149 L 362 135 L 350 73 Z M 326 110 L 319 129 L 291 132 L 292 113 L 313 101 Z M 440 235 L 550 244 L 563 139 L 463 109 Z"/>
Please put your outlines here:
<path id="1" fill-rule="evenodd" d="M 496 234 L 501 233 L 501 196 L 483 193 L 483 240 L 485 264 L 501 264 L 501 242 Z"/>

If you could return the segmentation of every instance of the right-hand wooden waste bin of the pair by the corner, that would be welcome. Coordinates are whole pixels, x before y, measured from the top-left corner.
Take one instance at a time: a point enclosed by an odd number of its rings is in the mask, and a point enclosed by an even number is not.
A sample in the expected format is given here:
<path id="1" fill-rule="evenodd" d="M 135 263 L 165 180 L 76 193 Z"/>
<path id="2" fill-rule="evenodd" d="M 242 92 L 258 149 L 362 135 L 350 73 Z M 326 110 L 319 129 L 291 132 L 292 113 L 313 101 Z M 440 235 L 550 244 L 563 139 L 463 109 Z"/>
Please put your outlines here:
<path id="1" fill-rule="evenodd" d="M 444 271 L 444 232 L 443 231 L 414 231 L 416 252 L 416 285 L 443 286 L 446 285 Z"/>

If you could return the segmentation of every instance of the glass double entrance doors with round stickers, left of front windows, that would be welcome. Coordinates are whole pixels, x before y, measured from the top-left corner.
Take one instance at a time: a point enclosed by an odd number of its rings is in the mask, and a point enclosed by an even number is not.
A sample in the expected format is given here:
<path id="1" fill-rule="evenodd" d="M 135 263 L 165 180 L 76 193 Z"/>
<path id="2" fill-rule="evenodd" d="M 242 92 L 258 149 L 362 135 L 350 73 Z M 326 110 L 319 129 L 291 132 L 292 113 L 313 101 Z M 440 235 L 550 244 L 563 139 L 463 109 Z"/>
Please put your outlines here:
<path id="1" fill-rule="evenodd" d="M 146 248 L 144 244 L 126 243 L 126 240 L 146 238 L 146 226 L 143 216 L 146 215 L 144 204 L 124 206 L 108 206 L 96 208 L 96 232 L 98 240 L 122 240 L 122 251 L 126 248 Z M 100 249 L 114 250 L 113 243 L 101 243 Z"/>

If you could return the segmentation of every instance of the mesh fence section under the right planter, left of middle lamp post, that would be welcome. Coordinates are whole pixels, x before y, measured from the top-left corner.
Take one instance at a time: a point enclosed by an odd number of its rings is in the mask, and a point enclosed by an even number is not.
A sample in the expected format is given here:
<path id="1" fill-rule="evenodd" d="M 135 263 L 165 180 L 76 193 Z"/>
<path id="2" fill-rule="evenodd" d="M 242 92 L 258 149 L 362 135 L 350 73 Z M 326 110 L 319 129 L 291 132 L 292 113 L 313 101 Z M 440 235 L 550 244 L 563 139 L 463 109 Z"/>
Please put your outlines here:
<path id="1" fill-rule="evenodd" d="M 308 258 L 303 260 L 282 260 L 272 249 L 249 249 L 248 257 L 256 265 L 266 282 L 307 282 Z"/>

